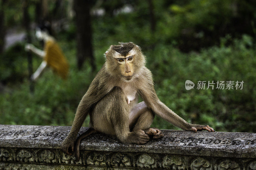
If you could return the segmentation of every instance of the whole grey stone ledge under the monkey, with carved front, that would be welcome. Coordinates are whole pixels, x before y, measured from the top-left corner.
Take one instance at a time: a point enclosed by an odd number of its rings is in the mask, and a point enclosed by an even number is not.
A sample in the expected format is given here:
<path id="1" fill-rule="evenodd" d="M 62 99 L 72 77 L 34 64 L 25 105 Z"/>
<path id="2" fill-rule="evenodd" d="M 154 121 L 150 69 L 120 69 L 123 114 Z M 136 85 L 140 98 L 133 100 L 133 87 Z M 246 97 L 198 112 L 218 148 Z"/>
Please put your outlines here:
<path id="1" fill-rule="evenodd" d="M 81 143 L 81 159 L 76 162 L 60 150 L 70 128 L 0 125 L 0 169 L 256 170 L 255 133 L 163 130 L 164 138 L 144 145 L 121 144 L 116 137 L 94 134 Z"/>

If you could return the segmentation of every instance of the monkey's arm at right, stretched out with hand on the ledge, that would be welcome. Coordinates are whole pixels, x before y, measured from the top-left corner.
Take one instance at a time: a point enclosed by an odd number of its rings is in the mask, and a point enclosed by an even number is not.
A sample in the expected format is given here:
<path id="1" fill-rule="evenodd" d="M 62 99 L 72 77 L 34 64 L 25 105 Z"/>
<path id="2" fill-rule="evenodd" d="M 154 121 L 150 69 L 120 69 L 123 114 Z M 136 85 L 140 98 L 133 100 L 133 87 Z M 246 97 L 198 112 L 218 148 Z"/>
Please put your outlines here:
<path id="1" fill-rule="evenodd" d="M 179 115 L 175 114 L 171 109 L 169 109 L 163 102 L 161 102 L 156 94 L 153 79 L 151 76 L 151 72 L 147 70 L 146 74 L 147 77 L 147 83 L 143 88 L 139 89 L 140 95 L 145 100 L 147 106 L 153 110 L 153 112 L 163 118 L 164 120 L 172 123 L 175 126 L 178 126 L 179 128 L 183 130 L 191 130 L 191 131 L 197 131 L 197 130 L 208 130 L 208 131 L 214 131 L 210 126 L 208 125 L 196 125 L 186 122 L 184 119 L 182 119 Z M 150 75 L 150 76 L 149 76 Z"/>

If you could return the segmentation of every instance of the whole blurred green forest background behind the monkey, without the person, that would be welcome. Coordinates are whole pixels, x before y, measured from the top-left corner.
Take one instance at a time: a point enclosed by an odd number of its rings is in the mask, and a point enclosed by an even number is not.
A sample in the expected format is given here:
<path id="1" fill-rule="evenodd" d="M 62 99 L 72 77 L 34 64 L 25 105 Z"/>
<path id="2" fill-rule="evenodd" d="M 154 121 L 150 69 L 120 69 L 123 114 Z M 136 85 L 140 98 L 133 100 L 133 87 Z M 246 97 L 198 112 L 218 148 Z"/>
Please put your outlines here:
<path id="1" fill-rule="evenodd" d="M 256 132 L 256 2 L 254 0 L 1 0 L 0 124 L 72 125 L 76 107 L 119 41 L 147 56 L 161 101 L 190 123 L 217 131 Z M 63 80 L 46 70 L 35 27 L 49 21 L 70 65 Z M 186 90 L 185 81 L 195 83 Z M 205 89 L 197 89 L 206 81 Z M 214 81 L 244 81 L 242 89 L 207 89 Z M 89 117 L 84 122 L 88 126 Z M 179 129 L 155 117 L 159 129 Z"/>

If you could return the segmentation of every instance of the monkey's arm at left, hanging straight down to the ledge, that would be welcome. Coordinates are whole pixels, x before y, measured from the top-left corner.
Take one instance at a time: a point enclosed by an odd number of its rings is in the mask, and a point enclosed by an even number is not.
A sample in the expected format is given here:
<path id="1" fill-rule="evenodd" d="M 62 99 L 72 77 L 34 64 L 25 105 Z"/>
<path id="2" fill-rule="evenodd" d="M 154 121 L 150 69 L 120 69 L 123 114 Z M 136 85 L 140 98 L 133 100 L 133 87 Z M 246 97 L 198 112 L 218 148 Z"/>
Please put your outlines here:
<path id="1" fill-rule="evenodd" d="M 74 142 L 76 140 L 76 136 L 83 125 L 84 119 L 89 114 L 90 109 L 108 93 L 108 89 L 106 89 L 104 85 L 104 82 L 107 81 L 107 77 L 103 75 L 103 73 L 106 73 L 104 69 L 104 66 L 100 69 L 80 101 L 76 110 L 72 128 L 68 134 L 68 137 L 62 143 L 63 151 L 69 155 L 71 155 L 71 153 L 68 152 L 68 148 L 71 147 L 72 151 L 74 151 Z"/>

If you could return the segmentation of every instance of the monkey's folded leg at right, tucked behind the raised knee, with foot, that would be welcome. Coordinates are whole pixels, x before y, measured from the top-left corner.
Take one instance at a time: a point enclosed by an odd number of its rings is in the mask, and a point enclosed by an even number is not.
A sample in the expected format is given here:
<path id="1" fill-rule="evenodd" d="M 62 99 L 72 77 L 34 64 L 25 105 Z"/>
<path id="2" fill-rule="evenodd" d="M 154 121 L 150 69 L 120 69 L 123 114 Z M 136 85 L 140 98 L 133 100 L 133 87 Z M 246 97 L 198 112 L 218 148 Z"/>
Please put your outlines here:
<path id="1" fill-rule="evenodd" d="M 154 120 L 155 114 L 151 109 L 148 108 L 144 101 L 138 103 L 134 106 L 129 115 L 129 127 L 130 130 L 142 129 L 146 134 L 153 137 L 153 139 L 158 139 L 163 137 L 162 132 L 157 128 L 150 128 Z"/>

